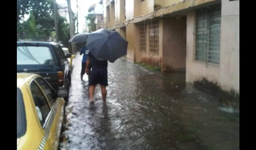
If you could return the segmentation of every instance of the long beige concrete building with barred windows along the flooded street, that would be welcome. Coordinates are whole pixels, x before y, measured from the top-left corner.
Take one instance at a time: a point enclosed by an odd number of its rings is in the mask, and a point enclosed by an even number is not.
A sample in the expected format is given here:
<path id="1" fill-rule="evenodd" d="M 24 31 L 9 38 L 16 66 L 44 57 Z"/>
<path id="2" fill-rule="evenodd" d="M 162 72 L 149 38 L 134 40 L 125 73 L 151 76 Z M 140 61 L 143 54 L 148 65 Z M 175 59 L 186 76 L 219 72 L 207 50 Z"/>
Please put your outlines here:
<path id="1" fill-rule="evenodd" d="M 186 81 L 239 101 L 239 0 L 102 0 L 104 27 L 127 59 L 186 71 Z"/>

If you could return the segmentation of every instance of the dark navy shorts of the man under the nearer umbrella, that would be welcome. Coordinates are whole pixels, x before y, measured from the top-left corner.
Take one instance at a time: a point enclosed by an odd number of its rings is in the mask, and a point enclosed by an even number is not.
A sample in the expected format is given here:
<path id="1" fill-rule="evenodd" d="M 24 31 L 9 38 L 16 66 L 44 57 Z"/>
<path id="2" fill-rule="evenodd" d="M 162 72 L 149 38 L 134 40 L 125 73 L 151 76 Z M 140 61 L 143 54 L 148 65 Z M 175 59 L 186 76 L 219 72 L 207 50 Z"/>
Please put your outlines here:
<path id="1" fill-rule="evenodd" d="M 108 86 L 108 69 L 106 67 L 92 66 L 92 72 L 89 77 L 89 85 L 104 85 Z"/>

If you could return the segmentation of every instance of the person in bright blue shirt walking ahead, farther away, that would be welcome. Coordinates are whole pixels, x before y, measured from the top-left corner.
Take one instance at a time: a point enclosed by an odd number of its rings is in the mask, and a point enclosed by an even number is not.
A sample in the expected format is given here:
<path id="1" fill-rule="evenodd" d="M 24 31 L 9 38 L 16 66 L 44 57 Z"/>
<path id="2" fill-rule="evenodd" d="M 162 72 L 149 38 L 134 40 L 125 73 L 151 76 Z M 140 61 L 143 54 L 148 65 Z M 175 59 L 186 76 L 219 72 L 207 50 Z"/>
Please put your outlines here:
<path id="1" fill-rule="evenodd" d="M 85 73 L 85 69 L 86 69 L 86 60 L 87 60 L 87 54 L 88 54 L 88 52 L 89 52 L 89 49 L 85 46 L 85 44 L 84 44 L 84 46 L 83 47 L 81 47 L 81 49 L 80 49 L 80 55 L 82 55 L 83 54 L 83 59 L 82 59 L 82 69 L 81 69 L 81 80 L 83 80 L 83 75 L 84 75 L 84 73 Z M 87 75 L 88 75 L 88 80 L 89 80 L 89 75 L 90 75 L 90 73 L 91 73 L 91 67 L 92 67 L 92 65 L 91 64 L 89 64 L 89 68 L 88 68 L 88 73 L 87 73 Z"/>

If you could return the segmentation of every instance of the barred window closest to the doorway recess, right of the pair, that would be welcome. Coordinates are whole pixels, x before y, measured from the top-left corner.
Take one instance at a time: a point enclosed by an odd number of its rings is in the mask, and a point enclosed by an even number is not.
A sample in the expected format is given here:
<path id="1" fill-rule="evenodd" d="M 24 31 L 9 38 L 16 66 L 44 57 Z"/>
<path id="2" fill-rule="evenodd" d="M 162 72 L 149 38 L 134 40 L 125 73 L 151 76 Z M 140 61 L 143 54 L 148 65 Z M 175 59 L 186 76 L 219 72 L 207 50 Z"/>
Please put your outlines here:
<path id="1" fill-rule="evenodd" d="M 159 21 L 148 22 L 149 27 L 149 52 L 158 53 L 159 48 Z"/>

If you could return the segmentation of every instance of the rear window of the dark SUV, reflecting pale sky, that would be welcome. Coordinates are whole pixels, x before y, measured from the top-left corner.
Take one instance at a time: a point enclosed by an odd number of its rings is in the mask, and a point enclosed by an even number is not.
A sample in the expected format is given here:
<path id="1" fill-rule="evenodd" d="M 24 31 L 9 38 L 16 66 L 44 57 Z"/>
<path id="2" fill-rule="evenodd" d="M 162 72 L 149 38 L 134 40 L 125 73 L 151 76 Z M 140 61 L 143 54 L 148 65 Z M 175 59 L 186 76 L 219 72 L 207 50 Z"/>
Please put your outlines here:
<path id="1" fill-rule="evenodd" d="M 46 46 L 17 46 L 17 64 L 54 64 Z"/>

